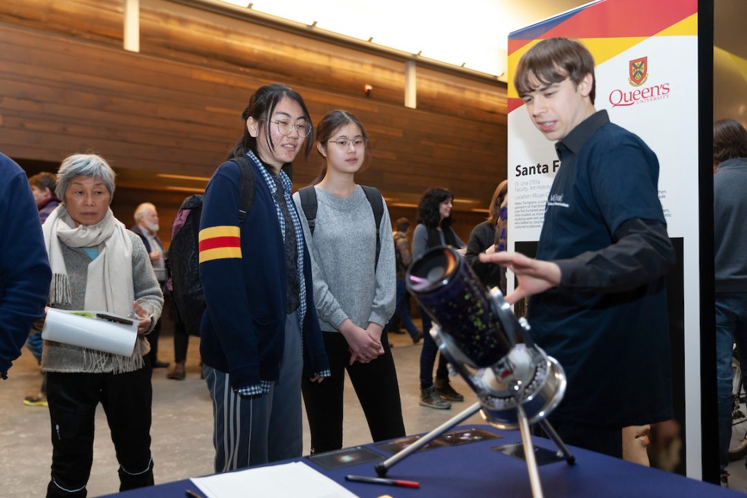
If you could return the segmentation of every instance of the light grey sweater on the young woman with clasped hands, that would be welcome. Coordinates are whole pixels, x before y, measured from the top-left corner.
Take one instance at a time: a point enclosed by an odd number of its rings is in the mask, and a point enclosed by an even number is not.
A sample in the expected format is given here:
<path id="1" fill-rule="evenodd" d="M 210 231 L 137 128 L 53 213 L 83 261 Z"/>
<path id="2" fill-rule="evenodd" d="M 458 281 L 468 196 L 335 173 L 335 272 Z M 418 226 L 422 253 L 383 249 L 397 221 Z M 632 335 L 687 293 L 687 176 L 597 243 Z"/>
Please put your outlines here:
<path id="1" fill-rule="evenodd" d="M 384 326 L 394 314 L 397 292 L 394 238 L 386 203 L 379 226 L 381 250 L 376 267 L 376 228 L 363 189 L 356 185 L 350 197 L 342 199 L 320 187 L 314 188 L 314 237 L 309 233 L 298 193 L 294 193 L 293 200 L 309 244 L 314 302 L 321 329 L 336 332 L 346 318 L 363 329 L 371 322 Z"/>

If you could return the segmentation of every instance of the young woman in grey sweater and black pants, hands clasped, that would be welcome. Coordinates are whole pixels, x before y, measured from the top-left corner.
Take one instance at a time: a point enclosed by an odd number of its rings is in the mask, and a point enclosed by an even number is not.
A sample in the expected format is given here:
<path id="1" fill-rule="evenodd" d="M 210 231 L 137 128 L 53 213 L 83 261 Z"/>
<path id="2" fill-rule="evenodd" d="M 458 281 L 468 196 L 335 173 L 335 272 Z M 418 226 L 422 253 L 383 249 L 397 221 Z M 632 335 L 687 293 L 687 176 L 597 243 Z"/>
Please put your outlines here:
<path id="1" fill-rule="evenodd" d="M 323 384 L 303 379 L 312 453 L 342 447 L 345 370 L 373 441 L 405 435 L 397 373 L 383 332 L 396 296 L 391 223 L 379 191 L 355 182 L 367 145 L 368 134 L 355 116 L 327 113 L 317 125 L 316 147 L 324 161 L 320 178 L 294 194 L 297 209 L 306 214 L 301 223 L 332 370 Z M 309 213 L 308 199 L 315 214 Z"/>

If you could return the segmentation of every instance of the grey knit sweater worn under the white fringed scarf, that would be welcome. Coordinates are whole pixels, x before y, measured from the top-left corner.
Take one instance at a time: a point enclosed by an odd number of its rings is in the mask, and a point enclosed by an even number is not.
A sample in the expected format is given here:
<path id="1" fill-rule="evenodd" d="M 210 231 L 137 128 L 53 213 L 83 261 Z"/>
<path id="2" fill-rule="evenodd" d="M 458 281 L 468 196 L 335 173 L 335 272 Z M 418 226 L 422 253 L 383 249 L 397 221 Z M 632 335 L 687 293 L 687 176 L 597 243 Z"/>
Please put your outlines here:
<path id="1" fill-rule="evenodd" d="M 140 237 L 126 231 L 132 243 L 132 280 L 135 300 L 149 313 L 153 314 L 153 323 L 161 317 L 164 305 L 164 294 L 158 280 L 155 279 L 150 258 Z M 84 309 L 88 264 L 91 259 L 83 249 L 75 249 L 62 244 L 67 276 L 70 282 L 72 299 L 71 310 Z M 105 311 L 105 310 L 88 310 Z M 54 340 L 44 341 L 42 370 L 44 372 L 64 373 L 125 373 L 143 367 L 143 355 L 150 351 L 148 341 L 142 335 L 137 336 L 137 343 L 131 358 L 112 355 L 108 352 L 94 351 Z"/>

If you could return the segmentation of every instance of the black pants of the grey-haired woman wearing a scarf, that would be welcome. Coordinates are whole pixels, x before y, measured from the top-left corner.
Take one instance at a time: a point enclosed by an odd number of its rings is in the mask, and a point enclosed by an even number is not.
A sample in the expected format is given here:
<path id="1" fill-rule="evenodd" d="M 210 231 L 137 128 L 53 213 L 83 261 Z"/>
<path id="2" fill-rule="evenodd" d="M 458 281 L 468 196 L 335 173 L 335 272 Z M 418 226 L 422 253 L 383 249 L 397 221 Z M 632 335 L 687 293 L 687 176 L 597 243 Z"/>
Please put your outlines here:
<path id="1" fill-rule="evenodd" d="M 151 368 L 130 373 L 57 373 L 47 380 L 52 421 L 52 479 L 47 497 L 87 495 L 93 423 L 101 402 L 120 463 L 120 491 L 153 485 L 150 455 Z"/>

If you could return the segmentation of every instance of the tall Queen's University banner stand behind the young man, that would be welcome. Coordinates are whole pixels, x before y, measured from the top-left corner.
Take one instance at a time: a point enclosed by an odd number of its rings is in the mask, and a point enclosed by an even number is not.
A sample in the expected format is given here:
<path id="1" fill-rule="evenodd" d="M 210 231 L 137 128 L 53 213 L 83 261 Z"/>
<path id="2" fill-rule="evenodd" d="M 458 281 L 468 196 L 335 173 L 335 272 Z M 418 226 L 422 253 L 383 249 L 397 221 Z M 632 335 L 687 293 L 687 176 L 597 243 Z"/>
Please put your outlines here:
<path id="1" fill-rule="evenodd" d="M 642 137 L 659 158 L 659 199 L 678 258 L 667 278 L 675 419 L 684 443 L 675 470 L 718 482 L 716 352 L 710 345 L 713 178 L 701 175 L 698 167 L 705 161 L 712 170 L 713 2 L 600 0 L 509 35 L 508 246 L 530 256 L 562 165 L 554 143 L 533 125 L 512 80 L 521 55 L 553 37 L 574 38 L 589 48 L 596 62 L 595 108 L 606 109 L 612 122 Z M 699 58 L 709 47 L 710 61 Z M 699 197 L 701 190 L 706 192 Z M 514 285 L 509 278 L 509 290 Z M 704 385 L 708 388 L 701 390 Z"/>

